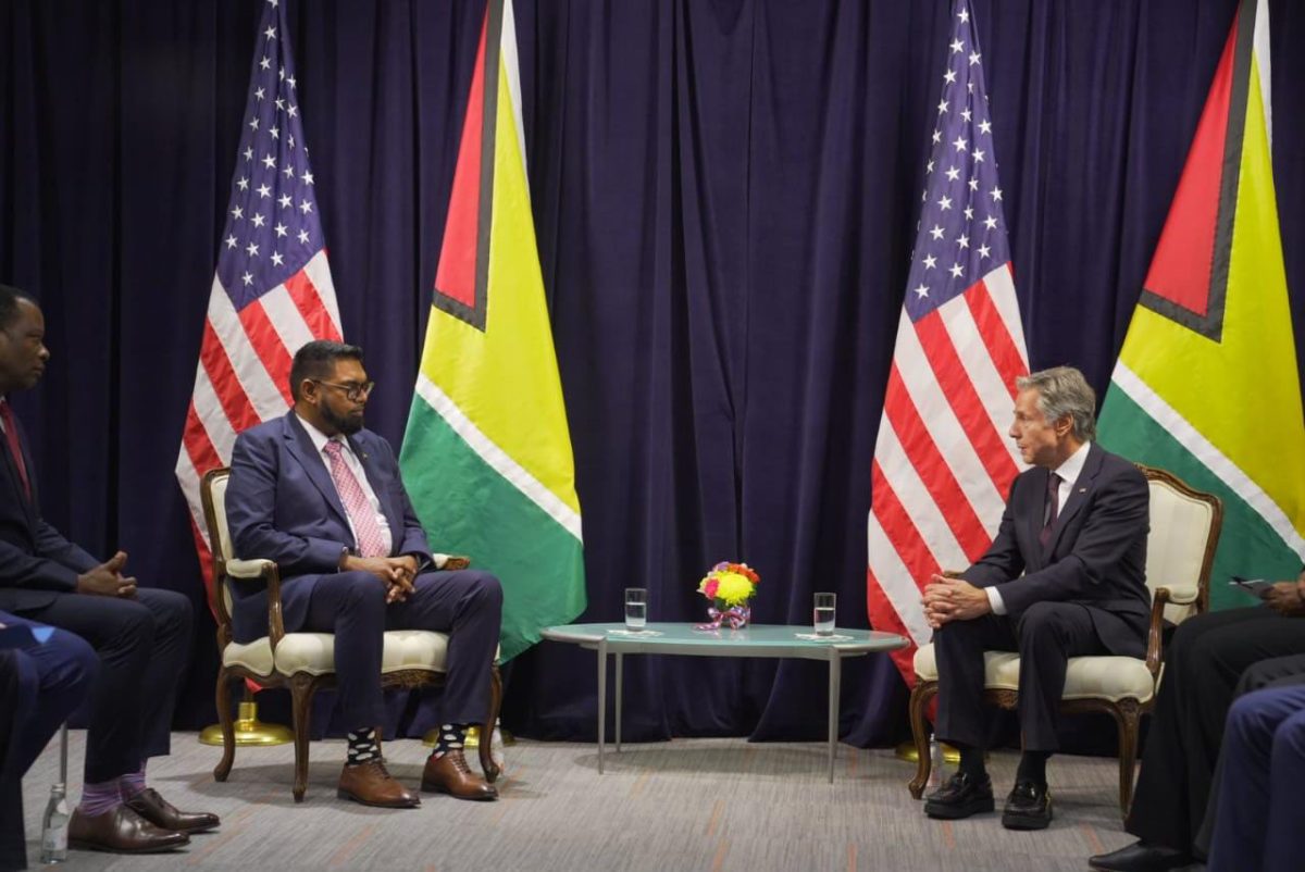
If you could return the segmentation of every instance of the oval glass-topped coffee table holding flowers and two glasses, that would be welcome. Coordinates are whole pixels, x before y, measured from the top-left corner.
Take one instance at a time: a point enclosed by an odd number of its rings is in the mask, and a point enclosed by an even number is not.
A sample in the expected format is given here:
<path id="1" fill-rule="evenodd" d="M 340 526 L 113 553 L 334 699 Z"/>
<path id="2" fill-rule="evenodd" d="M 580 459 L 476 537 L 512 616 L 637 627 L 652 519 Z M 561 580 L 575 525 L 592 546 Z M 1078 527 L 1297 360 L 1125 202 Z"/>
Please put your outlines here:
<path id="1" fill-rule="evenodd" d="M 801 638 L 806 636 L 808 638 Z M 649 624 L 630 632 L 625 624 L 566 624 L 549 627 L 543 637 L 598 651 L 598 771 L 603 773 L 607 744 L 607 655 L 616 658 L 616 751 L 621 751 L 621 658 L 625 654 L 688 654 L 690 657 L 791 657 L 829 663 L 829 782 L 834 783 L 838 751 L 838 694 L 843 659 L 906 647 L 897 633 L 835 629 L 827 638 L 810 638 L 812 628 L 753 624 L 745 629 L 697 629 L 693 624 Z"/>

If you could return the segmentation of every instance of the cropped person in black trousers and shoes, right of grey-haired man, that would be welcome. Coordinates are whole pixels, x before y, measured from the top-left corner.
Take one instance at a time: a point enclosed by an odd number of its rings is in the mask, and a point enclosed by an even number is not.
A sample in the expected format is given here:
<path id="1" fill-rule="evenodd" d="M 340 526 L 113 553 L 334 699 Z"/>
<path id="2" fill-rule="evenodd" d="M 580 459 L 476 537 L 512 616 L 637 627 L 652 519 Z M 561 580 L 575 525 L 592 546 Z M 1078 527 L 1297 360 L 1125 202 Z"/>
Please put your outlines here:
<path id="1" fill-rule="evenodd" d="M 1164 680 L 1124 829 L 1133 845 L 1090 858 L 1100 872 L 1165 872 L 1206 854 L 1201 838 L 1224 803 L 1211 802 L 1233 700 L 1305 670 L 1305 572 L 1274 585 L 1266 604 L 1206 612 L 1181 623 L 1165 650 Z M 1250 867 L 1246 867 L 1250 868 Z"/>

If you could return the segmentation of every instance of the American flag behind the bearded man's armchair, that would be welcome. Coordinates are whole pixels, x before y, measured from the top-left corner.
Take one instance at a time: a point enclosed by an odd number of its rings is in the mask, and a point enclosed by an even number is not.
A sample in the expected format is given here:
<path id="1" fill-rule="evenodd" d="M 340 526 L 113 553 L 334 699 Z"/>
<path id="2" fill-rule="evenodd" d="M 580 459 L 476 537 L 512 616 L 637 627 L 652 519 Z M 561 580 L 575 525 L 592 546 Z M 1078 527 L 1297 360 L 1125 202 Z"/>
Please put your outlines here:
<path id="1" fill-rule="evenodd" d="M 200 479 L 231 461 L 236 433 L 290 407 L 295 351 L 309 339 L 341 338 L 279 0 L 268 0 L 258 31 L 194 393 L 176 459 L 207 584 L 211 555 Z"/>

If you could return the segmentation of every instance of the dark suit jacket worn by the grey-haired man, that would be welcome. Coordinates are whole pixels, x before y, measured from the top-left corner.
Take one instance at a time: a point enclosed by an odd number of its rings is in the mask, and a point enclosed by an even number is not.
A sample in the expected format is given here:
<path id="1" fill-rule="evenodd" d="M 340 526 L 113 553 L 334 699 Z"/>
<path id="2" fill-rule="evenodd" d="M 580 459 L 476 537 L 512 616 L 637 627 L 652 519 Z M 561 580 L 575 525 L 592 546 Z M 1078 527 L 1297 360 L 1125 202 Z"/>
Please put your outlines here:
<path id="1" fill-rule="evenodd" d="M 1044 551 L 1037 537 L 1048 475 L 1049 470 L 1035 466 L 1015 476 L 997 538 L 964 572 L 964 580 L 979 587 L 996 586 L 1006 612 L 1015 619 L 1037 602 L 1079 603 L 1107 650 L 1143 657 L 1151 615 L 1146 586 L 1151 492 L 1146 476 L 1092 443 Z"/>

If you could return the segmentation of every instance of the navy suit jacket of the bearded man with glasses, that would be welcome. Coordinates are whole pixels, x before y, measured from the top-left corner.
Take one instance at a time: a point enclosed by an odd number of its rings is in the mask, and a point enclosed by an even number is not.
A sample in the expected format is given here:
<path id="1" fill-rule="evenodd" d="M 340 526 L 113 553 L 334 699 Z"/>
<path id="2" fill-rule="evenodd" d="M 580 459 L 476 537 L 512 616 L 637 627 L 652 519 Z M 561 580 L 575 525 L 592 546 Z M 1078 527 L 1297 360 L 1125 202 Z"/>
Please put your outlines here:
<path id="1" fill-rule="evenodd" d="M 369 429 L 350 436 L 348 444 L 390 525 L 390 556 L 414 555 L 418 563 L 429 561 L 431 546 L 403 488 L 390 444 Z M 294 410 L 236 437 L 226 508 L 235 555 L 279 565 L 286 632 L 300 629 L 317 580 L 337 572 L 345 551 L 356 553 L 358 543 L 330 470 Z M 266 636 L 266 591 L 251 582 L 231 587 L 236 641 Z"/>

